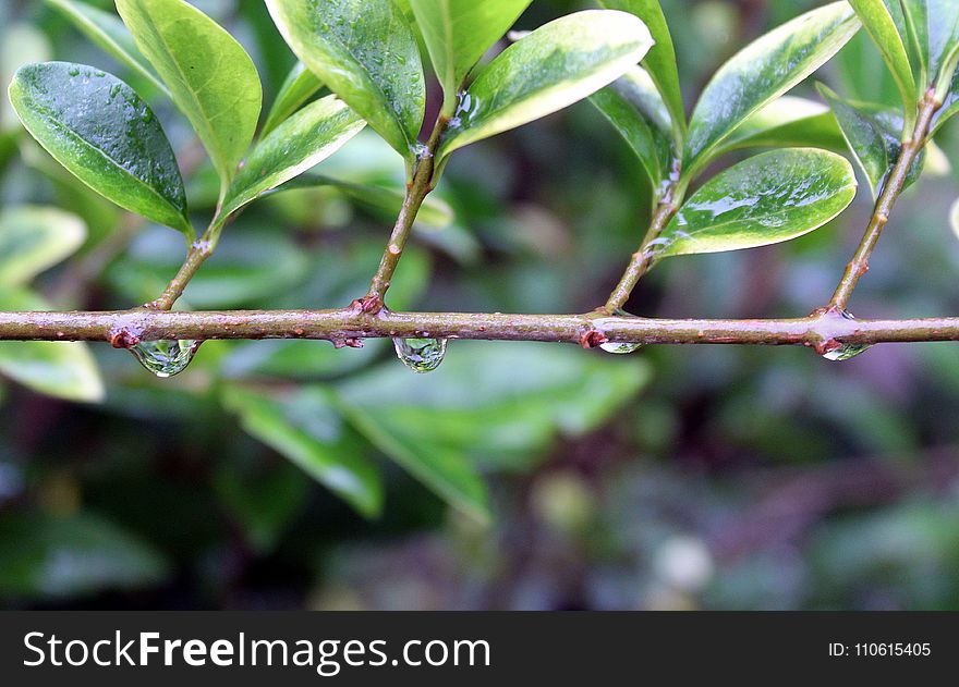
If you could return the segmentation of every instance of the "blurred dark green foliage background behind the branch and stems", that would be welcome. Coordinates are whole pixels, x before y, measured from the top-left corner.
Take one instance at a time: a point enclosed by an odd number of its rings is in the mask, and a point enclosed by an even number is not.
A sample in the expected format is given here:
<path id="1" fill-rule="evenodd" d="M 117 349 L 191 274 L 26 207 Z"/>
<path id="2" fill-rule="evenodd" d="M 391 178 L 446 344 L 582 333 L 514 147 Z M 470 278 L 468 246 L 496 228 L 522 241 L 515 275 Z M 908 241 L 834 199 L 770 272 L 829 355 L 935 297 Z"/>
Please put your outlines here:
<path id="1" fill-rule="evenodd" d="M 194 4 L 254 57 L 269 103 L 293 58 L 263 3 Z M 818 3 L 663 4 L 691 107 L 724 60 Z M 518 28 L 584 7 L 536 0 Z M 208 219 L 213 172 L 148 83 L 45 2 L 0 1 L 0 26 L 4 84 L 20 63 L 61 59 L 148 97 L 190 171 L 197 223 Z M 863 33 L 817 77 L 895 102 L 882 64 Z M 58 208 L 86 226 L 34 296 L 92 309 L 155 297 L 182 259 L 180 235 L 85 191 L 3 107 L 0 212 Z M 938 143 L 959 162 L 957 133 L 950 123 Z M 943 160 L 927 167 L 855 293 L 861 317 L 959 311 L 947 220 L 959 185 Z M 402 163 L 371 132 L 321 171 L 396 184 Z M 640 163 L 586 102 L 471 146 L 417 228 L 391 306 L 595 308 L 639 243 L 647 197 Z M 384 205 L 350 187 L 256 204 L 183 306 L 348 304 L 378 262 Z M 871 205 L 862 184 L 845 214 L 801 240 L 669 260 L 629 309 L 809 312 Z M 93 358 L 76 348 L 65 370 L 31 367 L 26 345 L 0 344 L 2 608 L 959 609 L 956 345 L 829 363 L 792 347 L 612 356 L 453 342 L 439 370 L 415 376 L 388 342 L 215 342 L 166 380 L 106 345 L 86 347 Z"/>

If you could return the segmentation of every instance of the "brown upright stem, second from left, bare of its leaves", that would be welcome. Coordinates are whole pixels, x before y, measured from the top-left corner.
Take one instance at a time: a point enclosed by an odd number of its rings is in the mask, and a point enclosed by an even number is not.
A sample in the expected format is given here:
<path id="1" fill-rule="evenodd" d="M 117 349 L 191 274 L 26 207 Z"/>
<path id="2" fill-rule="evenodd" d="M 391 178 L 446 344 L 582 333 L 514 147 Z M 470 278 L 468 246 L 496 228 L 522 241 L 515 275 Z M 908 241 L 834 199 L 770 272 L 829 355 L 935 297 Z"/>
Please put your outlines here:
<path id="1" fill-rule="evenodd" d="M 403 207 L 400 209 L 399 217 L 397 217 L 393 233 L 390 235 L 386 250 L 384 250 L 379 268 L 376 270 L 376 274 L 369 284 L 369 292 L 359 302 L 367 314 L 374 315 L 383 310 L 386 292 L 390 287 L 393 272 L 396 272 L 400 258 L 403 256 L 403 249 L 406 247 L 410 233 L 413 231 L 413 224 L 416 222 L 420 208 L 426 196 L 436 186 L 436 150 L 439 147 L 440 138 L 448 123 L 449 118 L 440 114 L 436 121 L 436 126 L 433 127 L 429 142 L 426 144 L 426 150 L 416 164 L 413 180 L 406 185 Z"/>

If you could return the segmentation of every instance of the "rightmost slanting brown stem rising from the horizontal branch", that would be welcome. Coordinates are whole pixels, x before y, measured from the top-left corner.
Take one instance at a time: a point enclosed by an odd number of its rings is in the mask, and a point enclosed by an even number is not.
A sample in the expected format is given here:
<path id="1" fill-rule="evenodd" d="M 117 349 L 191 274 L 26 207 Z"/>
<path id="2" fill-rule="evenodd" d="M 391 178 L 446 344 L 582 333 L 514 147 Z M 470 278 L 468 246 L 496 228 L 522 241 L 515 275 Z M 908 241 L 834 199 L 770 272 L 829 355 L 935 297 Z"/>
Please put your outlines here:
<path id="1" fill-rule="evenodd" d="M 846 266 L 846 272 L 842 274 L 836 292 L 833 294 L 833 299 L 829 302 L 830 308 L 845 310 L 859 280 L 869 271 L 870 256 L 879 241 L 883 229 L 889 221 L 889 214 L 906 186 L 906 181 L 916 157 L 919 157 L 927 143 L 930 125 L 940 107 L 942 102 L 936 99 L 935 91 L 930 89 L 920 102 L 919 116 L 912 138 L 903 142 L 902 147 L 899 149 L 899 158 L 896 160 L 896 165 L 889 172 L 886 183 L 883 185 L 883 191 L 876 200 L 876 206 L 869 226 L 866 226 L 865 234 L 863 234 L 852 260 Z"/>

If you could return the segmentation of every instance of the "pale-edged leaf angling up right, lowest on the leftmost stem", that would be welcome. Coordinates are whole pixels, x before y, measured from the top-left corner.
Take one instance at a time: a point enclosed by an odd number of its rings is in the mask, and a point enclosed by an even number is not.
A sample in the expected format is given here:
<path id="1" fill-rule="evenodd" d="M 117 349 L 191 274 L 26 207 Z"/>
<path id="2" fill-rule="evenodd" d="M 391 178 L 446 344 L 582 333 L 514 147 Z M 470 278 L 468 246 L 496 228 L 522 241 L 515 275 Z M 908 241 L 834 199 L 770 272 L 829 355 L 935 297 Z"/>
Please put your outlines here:
<path id="1" fill-rule="evenodd" d="M 336 96 L 313 102 L 280 124 L 250 154 L 215 223 L 312 169 L 359 134 L 366 122 Z"/>

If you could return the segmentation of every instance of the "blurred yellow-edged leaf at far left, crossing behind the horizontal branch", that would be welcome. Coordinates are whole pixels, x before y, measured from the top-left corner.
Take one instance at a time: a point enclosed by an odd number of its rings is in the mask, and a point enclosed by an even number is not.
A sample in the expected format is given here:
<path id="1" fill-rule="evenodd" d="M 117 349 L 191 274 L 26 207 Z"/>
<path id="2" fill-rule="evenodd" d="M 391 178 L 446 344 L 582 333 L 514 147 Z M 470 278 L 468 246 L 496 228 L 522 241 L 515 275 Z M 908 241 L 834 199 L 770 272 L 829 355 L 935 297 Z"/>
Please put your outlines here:
<path id="1" fill-rule="evenodd" d="M 0 289 L 0 310 L 49 310 L 39 296 L 19 289 Z M 66 401 L 99 403 L 104 382 L 83 343 L 48 341 L 0 342 L 0 372 L 34 391 Z"/>

